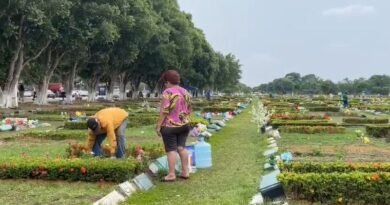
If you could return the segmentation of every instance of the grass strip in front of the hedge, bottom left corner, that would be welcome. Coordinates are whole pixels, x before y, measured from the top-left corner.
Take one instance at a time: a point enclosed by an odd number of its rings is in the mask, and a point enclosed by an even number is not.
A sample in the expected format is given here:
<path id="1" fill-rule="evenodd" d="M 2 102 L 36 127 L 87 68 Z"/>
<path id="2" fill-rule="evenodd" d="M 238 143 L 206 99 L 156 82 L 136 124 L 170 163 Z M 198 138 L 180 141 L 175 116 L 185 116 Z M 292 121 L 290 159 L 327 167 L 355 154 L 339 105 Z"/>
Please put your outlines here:
<path id="1" fill-rule="evenodd" d="M 112 190 L 112 183 L 0 180 L 0 204 L 91 204 Z"/>

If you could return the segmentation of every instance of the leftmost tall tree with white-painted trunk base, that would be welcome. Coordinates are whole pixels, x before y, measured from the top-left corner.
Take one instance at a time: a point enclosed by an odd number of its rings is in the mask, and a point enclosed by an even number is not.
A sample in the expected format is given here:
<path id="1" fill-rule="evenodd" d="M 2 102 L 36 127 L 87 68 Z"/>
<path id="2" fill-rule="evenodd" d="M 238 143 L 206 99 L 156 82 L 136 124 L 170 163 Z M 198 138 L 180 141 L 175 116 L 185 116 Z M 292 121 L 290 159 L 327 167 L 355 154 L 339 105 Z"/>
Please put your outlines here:
<path id="1" fill-rule="evenodd" d="M 17 107 L 17 85 L 24 68 L 34 62 L 52 42 L 52 1 L 0 1 L 0 55 L 5 56 L 6 80 L 0 89 L 0 105 Z"/>

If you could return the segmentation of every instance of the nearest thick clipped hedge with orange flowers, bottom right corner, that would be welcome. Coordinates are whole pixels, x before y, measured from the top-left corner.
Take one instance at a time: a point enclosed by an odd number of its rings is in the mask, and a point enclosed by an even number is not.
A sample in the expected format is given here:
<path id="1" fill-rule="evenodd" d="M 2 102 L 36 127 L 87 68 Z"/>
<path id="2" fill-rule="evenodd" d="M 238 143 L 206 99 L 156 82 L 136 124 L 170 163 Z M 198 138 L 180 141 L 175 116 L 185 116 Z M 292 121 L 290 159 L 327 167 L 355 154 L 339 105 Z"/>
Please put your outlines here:
<path id="1" fill-rule="evenodd" d="M 278 176 L 294 199 L 326 204 L 390 204 L 390 173 L 291 173 Z"/>

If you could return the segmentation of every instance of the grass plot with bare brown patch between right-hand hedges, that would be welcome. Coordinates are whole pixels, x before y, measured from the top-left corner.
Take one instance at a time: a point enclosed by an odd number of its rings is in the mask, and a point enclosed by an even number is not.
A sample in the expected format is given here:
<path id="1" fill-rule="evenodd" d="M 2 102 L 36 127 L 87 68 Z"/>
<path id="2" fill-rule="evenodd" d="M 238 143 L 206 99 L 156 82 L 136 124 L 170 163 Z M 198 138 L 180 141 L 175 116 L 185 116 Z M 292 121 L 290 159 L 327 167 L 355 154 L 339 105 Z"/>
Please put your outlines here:
<path id="1" fill-rule="evenodd" d="M 299 161 L 389 162 L 390 143 L 370 137 L 370 143 L 364 144 L 356 129 L 365 132 L 364 127 L 354 127 L 343 134 L 281 133 L 278 145 L 280 151 L 292 152 Z"/>

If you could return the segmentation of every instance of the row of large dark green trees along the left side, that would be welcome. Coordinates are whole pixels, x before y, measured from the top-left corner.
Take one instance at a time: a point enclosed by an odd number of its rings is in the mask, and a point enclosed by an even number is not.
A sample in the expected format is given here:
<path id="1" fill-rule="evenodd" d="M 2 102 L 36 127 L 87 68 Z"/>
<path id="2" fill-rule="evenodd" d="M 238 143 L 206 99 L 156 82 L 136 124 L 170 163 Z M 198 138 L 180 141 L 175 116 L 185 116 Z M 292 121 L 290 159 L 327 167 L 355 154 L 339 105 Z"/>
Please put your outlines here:
<path id="1" fill-rule="evenodd" d="M 50 82 L 71 92 L 75 78 L 94 100 L 100 82 L 156 90 L 161 73 L 202 89 L 239 86 L 239 60 L 215 51 L 176 0 L 15 0 L 0 2 L 0 105 L 16 107 L 16 87 L 35 84 L 39 104 Z M 112 95 L 108 95 L 109 98 Z"/>

